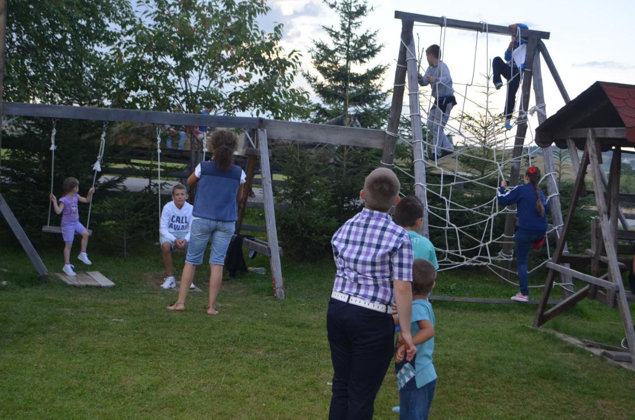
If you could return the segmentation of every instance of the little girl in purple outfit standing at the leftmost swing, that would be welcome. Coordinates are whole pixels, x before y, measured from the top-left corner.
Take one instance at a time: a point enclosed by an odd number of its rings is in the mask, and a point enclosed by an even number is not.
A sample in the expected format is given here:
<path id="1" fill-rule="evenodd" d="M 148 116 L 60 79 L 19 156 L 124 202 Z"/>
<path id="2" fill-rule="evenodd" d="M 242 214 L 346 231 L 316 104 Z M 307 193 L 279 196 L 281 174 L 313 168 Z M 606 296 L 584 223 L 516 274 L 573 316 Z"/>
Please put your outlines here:
<path id="1" fill-rule="evenodd" d="M 77 178 L 70 176 L 64 180 L 64 197 L 59 199 L 59 204 L 55 195 L 49 195 L 49 198 L 53 202 L 53 209 L 55 214 L 62 213 L 62 239 L 64 240 L 64 268 L 62 271 L 67 275 L 77 275 L 70 265 L 70 248 L 73 246 L 73 238 L 75 233 L 81 235 L 81 253 L 77 256 L 79 261 L 86 265 L 91 265 L 88 254 L 86 254 L 86 246 L 88 246 L 88 230 L 79 221 L 79 211 L 77 209 L 77 202 L 90 203 L 95 187 L 91 187 L 88 190 L 86 197 L 81 197 L 77 194 L 79 192 L 79 181 Z"/>

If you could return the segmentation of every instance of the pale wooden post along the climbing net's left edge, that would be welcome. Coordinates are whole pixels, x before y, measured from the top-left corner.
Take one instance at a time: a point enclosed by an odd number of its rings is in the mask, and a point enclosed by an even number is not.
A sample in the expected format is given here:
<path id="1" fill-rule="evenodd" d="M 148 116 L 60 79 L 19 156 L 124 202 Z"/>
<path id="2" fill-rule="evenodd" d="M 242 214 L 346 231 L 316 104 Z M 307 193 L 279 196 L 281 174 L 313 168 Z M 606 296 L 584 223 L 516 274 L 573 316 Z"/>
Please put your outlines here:
<path id="1" fill-rule="evenodd" d="M 424 131 L 421 123 L 421 109 L 419 106 L 419 83 L 417 72 L 417 51 L 415 39 L 410 37 L 406 48 L 406 66 L 408 70 L 408 103 L 410 104 L 410 127 L 412 128 L 412 153 L 415 163 L 415 195 L 424 205 L 421 234 L 430 237 L 428 232 L 428 200 L 425 192 L 425 160 L 424 160 Z"/>

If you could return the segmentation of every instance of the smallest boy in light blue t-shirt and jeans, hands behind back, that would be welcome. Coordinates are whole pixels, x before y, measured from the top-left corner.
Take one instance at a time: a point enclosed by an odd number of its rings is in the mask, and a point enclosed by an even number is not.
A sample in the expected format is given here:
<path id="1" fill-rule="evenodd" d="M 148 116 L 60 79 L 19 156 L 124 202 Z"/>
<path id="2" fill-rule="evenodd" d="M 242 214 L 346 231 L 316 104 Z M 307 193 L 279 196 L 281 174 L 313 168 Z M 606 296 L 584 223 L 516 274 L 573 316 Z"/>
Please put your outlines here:
<path id="1" fill-rule="evenodd" d="M 406 347 L 398 342 L 395 371 L 399 386 L 399 420 L 422 420 L 430 414 L 436 371 L 432 365 L 434 351 L 434 312 L 428 294 L 434 289 L 436 270 L 430 261 L 418 258 L 412 264 L 412 311 L 410 329 L 417 354 L 404 359 Z M 393 315 L 398 322 L 398 315 Z M 396 409 L 395 409 L 396 410 Z"/>

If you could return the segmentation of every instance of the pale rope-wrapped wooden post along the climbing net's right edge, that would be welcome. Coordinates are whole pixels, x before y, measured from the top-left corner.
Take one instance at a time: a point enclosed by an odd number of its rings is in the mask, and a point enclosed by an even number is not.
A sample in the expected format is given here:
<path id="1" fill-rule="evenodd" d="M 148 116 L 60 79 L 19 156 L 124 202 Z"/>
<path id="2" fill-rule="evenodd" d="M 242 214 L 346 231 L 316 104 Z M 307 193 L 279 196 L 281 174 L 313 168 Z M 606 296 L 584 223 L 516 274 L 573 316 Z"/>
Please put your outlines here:
<path id="1" fill-rule="evenodd" d="M 536 53 L 533 59 L 533 71 L 532 71 L 532 79 L 533 79 L 533 94 L 536 98 L 536 105 L 540 105 L 545 103 L 545 94 L 542 89 L 542 71 L 540 69 L 540 55 Z M 542 108 L 543 112 L 538 110 L 538 125 L 545 122 L 547 119 L 546 116 L 546 107 Z M 544 158 L 544 166 L 545 166 L 545 176 L 547 176 L 547 194 L 553 195 L 551 200 L 549 200 L 549 204 L 551 204 L 551 220 L 553 221 L 554 226 L 556 227 L 556 237 L 558 240 L 561 238 L 562 234 L 562 207 L 560 203 L 560 195 L 558 190 L 558 185 L 556 185 L 556 178 L 553 175 L 549 175 L 556 172 L 556 168 L 554 165 L 554 155 L 551 145 L 549 147 L 542 148 L 542 156 Z M 555 195 L 554 195 L 555 194 Z M 565 242 L 564 251 L 568 253 L 568 247 Z M 568 264 L 565 264 L 567 268 Z M 562 298 L 566 299 L 567 296 L 573 293 L 573 280 L 572 277 L 565 273 L 560 273 L 560 279 L 565 287 L 562 287 Z"/>

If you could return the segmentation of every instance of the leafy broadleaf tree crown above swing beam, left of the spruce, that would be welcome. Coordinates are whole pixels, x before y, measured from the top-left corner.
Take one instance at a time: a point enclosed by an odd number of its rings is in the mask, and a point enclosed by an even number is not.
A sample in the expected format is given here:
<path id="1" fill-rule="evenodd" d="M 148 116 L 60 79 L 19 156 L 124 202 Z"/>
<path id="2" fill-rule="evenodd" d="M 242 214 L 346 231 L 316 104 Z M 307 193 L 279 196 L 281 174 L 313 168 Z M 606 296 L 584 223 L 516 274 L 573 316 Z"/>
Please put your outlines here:
<path id="1" fill-rule="evenodd" d="M 306 115 L 307 93 L 291 84 L 300 54 L 279 46 L 282 25 L 258 27 L 264 1 L 139 0 L 119 45 L 126 107 L 213 114 Z"/>

